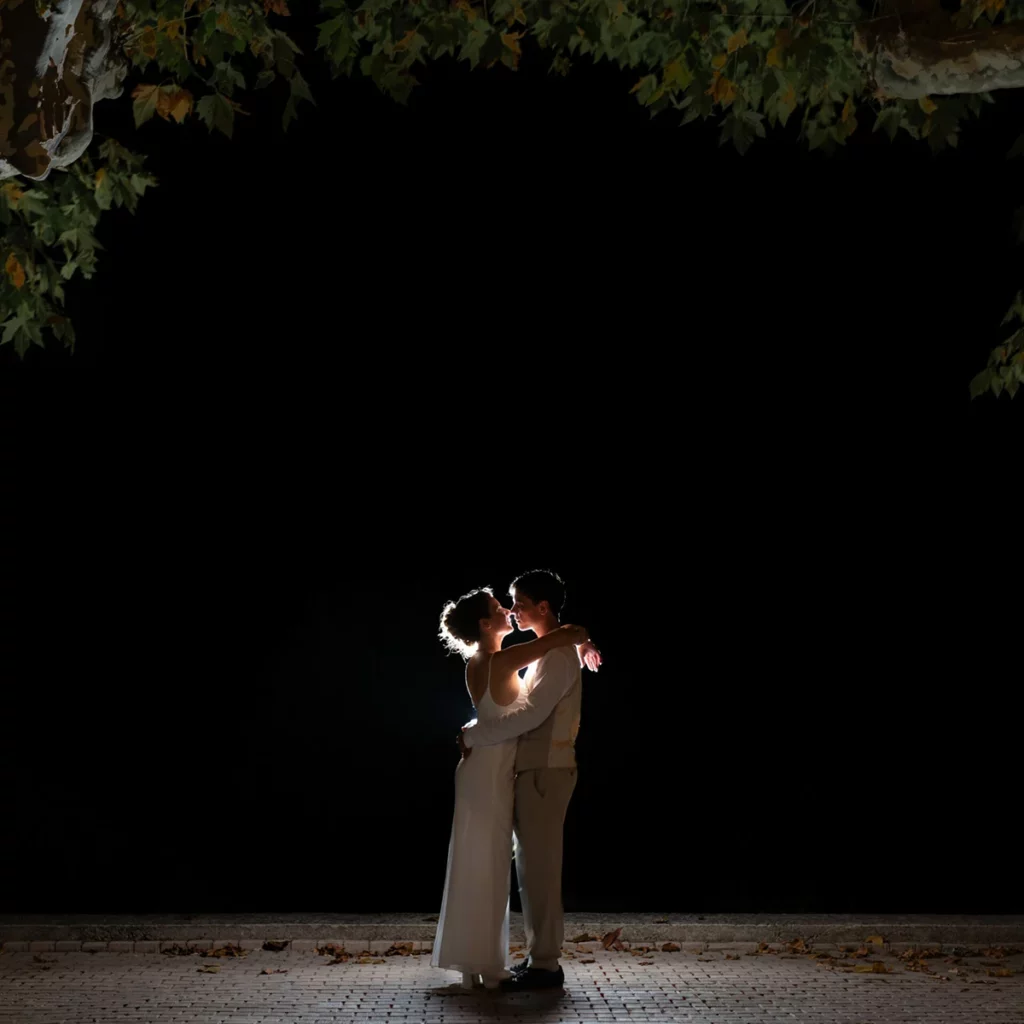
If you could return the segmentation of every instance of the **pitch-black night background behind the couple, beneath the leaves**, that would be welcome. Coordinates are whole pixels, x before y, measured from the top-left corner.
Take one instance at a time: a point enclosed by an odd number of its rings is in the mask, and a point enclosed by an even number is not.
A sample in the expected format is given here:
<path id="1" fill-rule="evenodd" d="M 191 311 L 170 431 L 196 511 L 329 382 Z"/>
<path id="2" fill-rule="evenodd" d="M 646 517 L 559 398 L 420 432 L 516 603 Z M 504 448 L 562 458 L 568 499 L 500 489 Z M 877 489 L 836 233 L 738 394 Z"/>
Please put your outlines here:
<path id="1" fill-rule="evenodd" d="M 74 356 L 3 352 L 7 909 L 436 912 L 437 616 L 538 565 L 606 658 L 567 909 L 1024 909 L 1017 410 L 967 392 L 1017 98 L 739 158 L 631 72 L 401 109 L 299 26 L 287 136 L 97 108 L 161 186 Z"/>

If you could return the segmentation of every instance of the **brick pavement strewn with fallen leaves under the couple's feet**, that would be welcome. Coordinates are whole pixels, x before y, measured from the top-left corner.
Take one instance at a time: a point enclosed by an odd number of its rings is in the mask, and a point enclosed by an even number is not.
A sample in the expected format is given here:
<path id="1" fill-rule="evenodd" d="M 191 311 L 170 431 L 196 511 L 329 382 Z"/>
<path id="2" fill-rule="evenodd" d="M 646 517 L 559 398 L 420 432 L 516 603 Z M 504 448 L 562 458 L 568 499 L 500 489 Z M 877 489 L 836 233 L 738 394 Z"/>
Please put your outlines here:
<path id="1" fill-rule="evenodd" d="M 333 965 L 291 948 L 219 958 L 5 950 L 0 1024 L 1024 1024 L 1024 954 L 1005 951 L 954 961 L 961 950 L 947 948 L 921 961 L 901 959 L 897 947 L 851 956 L 822 946 L 812 958 L 784 946 L 753 954 L 749 943 L 679 951 L 588 943 L 563 961 L 564 993 L 512 996 L 441 994 L 456 976 L 432 968 L 429 944 L 418 945 L 412 955 L 355 949 Z"/>

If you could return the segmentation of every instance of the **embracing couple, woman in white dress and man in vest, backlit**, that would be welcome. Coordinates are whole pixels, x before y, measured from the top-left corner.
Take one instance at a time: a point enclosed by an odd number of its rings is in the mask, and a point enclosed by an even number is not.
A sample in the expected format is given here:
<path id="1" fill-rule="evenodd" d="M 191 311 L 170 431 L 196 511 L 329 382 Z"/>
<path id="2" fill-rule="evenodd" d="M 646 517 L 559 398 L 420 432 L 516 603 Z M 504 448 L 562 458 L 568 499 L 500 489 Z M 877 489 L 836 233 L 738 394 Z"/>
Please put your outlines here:
<path id="1" fill-rule="evenodd" d="M 577 783 L 581 667 L 596 672 L 601 655 L 583 627 L 559 625 L 565 587 L 555 573 L 527 572 L 509 596 L 505 608 L 484 587 L 441 614 L 441 639 L 466 658 L 477 717 L 459 735 L 463 757 L 431 964 L 460 972 L 468 989 L 560 988 L 562 825 Z M 513 622 L 537 639 L 503 650 Z M 529 958 L 510 971 L 513 849 Z"/>

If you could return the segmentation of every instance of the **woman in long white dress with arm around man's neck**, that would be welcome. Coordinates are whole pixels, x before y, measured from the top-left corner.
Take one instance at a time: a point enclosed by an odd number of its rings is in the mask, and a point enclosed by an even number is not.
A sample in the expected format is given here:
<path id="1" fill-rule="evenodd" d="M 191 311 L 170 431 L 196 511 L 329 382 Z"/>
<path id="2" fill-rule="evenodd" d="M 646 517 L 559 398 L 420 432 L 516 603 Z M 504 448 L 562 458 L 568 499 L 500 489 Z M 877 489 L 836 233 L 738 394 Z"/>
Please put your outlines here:
<path id="1" fill-rule="evenodd" d="M 583 644 L 582 626 L 560 626 L 546 636 L 501 649 L 512 632 L 511 612 L 489 587 L 450 602 L 440 637 L 467 659 L 466 686 L 480 721 L 528 702 L 528 679 L 519 670 L 554 647 Z M 473 749 L 455 771 L 455 817 L 447 873 L 430 963 L 462 974 L 462 987 L 498 988 L 509 976 L 509 883 L 516 739 Z"/>

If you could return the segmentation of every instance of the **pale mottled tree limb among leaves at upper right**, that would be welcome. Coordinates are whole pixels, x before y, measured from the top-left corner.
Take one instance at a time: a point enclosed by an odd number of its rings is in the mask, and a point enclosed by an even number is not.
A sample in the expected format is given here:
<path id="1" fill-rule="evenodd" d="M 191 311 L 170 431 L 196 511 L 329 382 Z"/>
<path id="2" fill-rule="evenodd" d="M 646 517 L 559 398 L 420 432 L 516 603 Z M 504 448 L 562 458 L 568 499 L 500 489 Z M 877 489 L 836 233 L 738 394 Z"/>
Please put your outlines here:
<path id="1" fill-rule="evenodd" d="M 941 12 L 890 14 L 857 26 L 854 49 L 871 61 L 879 88 L 901 99 L 1024 86 L 1024 22 L 951 29 Z"/>

